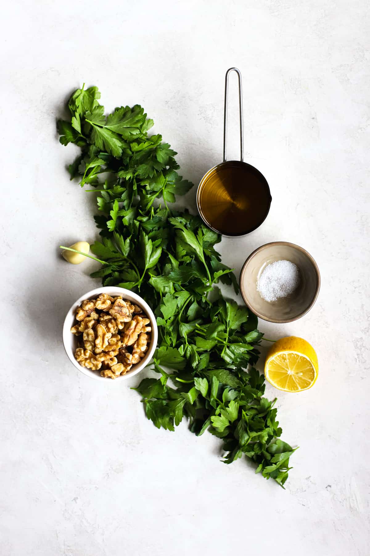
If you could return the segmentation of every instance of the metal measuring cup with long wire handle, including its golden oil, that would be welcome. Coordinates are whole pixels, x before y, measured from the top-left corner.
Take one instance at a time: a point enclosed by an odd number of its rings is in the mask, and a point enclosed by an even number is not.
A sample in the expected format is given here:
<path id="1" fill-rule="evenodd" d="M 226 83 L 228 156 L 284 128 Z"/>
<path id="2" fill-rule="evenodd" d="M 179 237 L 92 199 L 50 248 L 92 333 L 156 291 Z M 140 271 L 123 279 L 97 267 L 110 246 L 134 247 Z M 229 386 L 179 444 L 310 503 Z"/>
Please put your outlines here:
<path id="1" fill-rule="evenodd" d="M 229 75 L 235 71 L 239 81 L 240 161 L 226 160 L 227 98 Z M 230 68 L 225 77 L 224 161 L 201 179 L 196 203 L 202 220 L 212 230 L 228 237 L 239 237 L 256 230 L 266 219 L 271 204 L 270 187 L 254 166 L 243 161 L 243 99 L 241 73 Z"/>

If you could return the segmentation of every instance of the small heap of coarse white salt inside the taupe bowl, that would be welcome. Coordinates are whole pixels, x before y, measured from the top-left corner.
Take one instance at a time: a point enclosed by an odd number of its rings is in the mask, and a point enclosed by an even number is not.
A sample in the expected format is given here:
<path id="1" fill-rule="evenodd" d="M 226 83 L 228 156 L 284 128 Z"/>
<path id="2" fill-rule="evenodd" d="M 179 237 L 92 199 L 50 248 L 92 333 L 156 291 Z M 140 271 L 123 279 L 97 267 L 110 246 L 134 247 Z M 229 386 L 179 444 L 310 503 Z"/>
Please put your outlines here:
<path id="1" fill-rule="evenodd" d="M 287 297 L 297 289 L 300 282 L 300 271 L 290 261 L 276 261 L 263 269 L 257 290 L 265 301 L 276 301 L 280 297 Z"/>

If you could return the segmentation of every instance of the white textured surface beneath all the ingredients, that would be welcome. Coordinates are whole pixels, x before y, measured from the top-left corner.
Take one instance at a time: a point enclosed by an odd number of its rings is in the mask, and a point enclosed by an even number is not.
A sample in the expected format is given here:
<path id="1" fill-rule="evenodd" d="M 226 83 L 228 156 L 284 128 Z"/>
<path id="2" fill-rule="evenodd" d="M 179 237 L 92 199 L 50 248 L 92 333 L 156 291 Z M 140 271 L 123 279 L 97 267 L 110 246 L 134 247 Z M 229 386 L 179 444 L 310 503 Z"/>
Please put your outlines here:
<path id="1" fill-rule="evenodd" d="M 7 3 L 2 12 L 0 552 L 3 556 L 363 556 L 369 516 L 369 8 L 366 0 Z M 316 347 L 320 377 L 278 393 L 282 438 L 300 445 L 283 492 L 219 441 L 146 421 L 130 383 L 69 363 L 62 322 L 96 282 L 58 245 L 92 241 L 89 193 L 68 181 L 74 147 L 55 119 L 98 85 L 111 110 L 141 103 L 197 182 L 221 160 L 224 74 L 244 77 L 246 161 L 271 212 L 224 262 L 267 241 L 302 245 L 318 301 L 267 337 Z M 229 156 L 237 156 L 235 75 Z M 194 207 L 194 193 L 189 195 Z M 267 386 L 267 395 L 276 391 Z"/>

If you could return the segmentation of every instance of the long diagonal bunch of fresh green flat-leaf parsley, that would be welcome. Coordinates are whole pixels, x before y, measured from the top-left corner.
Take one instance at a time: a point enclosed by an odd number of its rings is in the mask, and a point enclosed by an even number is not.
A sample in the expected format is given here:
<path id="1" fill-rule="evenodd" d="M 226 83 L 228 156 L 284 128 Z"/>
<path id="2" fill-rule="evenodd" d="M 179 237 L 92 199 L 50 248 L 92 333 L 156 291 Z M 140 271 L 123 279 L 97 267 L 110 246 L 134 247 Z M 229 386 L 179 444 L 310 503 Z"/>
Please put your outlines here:
<path id="1" fill-rule="evenodd" d="M 135 389 L 146 416 L 168 430 L 185 417 L 196 435 L 209 430 L 222 439 L 225 463 L 244 454 L 256 473 L 283 486 L 294 450 L 278 438 L 275 402 L 263 397 L 264 378 L 254 368 L 262 338 L 257 317 L 215 286 L 239 291 L 215 250 L 221 237 L 199 217 L 169 209 L 192 184 L 176 172 L 170 145 L 148 136 L 153 120 L 143 108 L 122 106 L 104 116 L 99 98 L 97 87 L 72 95 L 70 120 L 58 122 L 59 141 L 81 148 L 69 166 L 71 179 L 78 176 L 82 187 L 93 186 L 85 191 L 98 193 L 102 237 L 91 250 L 102 268 L 92 276 L 139 291 L 156 315 L 159 378 Z"/>

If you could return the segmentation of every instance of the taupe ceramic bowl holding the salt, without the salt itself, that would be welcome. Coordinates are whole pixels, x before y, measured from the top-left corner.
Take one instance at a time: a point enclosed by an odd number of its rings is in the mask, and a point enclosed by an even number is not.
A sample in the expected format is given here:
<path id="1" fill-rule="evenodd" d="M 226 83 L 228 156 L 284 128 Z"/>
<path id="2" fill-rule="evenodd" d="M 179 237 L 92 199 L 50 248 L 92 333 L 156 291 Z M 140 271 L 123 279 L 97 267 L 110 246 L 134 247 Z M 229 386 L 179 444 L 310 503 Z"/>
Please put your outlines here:
<path id="1" fill-rule="evenodd" d="M 290 296 L 268 302 L 257 291 L 257 281 L 267 265 L 280 260 L 297 265 L 300 283 Z M 292 322 L 305 315 L 315 303 L 320 290 L 320 272 L 305 249 L 286 241 L 275 241 L 262 245 L 245 261 L 240 273 L 240 290 L 245 304 L 260 319 Z"/>

